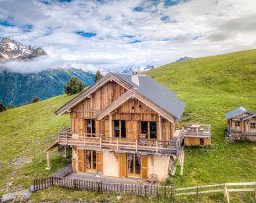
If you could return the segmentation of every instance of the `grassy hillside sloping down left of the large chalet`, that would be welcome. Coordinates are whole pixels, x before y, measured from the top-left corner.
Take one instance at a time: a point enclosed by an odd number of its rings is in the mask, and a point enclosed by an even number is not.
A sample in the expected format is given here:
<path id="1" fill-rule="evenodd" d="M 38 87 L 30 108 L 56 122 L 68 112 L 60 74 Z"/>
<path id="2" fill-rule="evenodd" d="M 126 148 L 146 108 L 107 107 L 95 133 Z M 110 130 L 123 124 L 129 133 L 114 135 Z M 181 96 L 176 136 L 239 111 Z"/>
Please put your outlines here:
<path id="1" fill-rule="evenodd" d="M 6 188 L 27 187 L 36 177 L 44 177 L 65 163 L 60 155 L 53 168 L 45 170 L 44 149 L 56 140 L 57 131 L 69 125 L 68 116 L 53 112 L 72 96 L 57 96 L 0 113 L 0 194 Z"/>

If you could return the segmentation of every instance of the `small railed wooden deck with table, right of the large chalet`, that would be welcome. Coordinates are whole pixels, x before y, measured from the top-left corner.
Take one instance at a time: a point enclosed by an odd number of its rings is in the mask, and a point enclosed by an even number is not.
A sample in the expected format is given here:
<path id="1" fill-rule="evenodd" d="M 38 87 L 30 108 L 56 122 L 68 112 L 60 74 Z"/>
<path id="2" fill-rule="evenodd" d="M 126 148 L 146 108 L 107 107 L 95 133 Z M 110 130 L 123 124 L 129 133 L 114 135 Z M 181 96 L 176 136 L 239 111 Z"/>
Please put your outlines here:
<path id="1" fill-rule="evenodd" d="M 211 137 L 210 124 L 184 124 L 182 127 L 184 137 L 198 137 L 207 138 Z"/>

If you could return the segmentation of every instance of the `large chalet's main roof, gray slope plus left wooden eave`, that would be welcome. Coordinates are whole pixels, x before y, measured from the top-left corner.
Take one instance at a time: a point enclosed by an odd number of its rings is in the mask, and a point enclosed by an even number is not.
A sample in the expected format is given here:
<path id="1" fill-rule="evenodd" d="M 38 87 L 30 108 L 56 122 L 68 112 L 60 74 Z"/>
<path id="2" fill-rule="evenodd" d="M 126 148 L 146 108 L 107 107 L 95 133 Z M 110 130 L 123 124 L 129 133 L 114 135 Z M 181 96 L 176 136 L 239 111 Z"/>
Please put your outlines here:
<path id="1" fill-rule="evenodd" d="M 180 101 L 173 91 L 162 86 L 160 83 L 149 76 L 136 75 L 138 76 L 136 79 L 132 79 L 132 76 L 134 75 L 109 73 L 101 78 L 98 82 L 96 82 L 96 84 L 80 93 L 68 103 L 64 104 L 62 107 L 56 110 L 55 113 L 60 115 L 68 112 L 68 110 L 77 105 L 91 93 L 96 91 L 97 88 L 104 85 L 107 81 L 109 81 L 109 79 L 111 79 L 123 85 L 127 90 L 134 89 L 136 92 L 155 103 L 157 106 L 166 111 L 168 114 L 174 116 L 176 119 L 181 118 L 184 112 L 185 103 Z"/>

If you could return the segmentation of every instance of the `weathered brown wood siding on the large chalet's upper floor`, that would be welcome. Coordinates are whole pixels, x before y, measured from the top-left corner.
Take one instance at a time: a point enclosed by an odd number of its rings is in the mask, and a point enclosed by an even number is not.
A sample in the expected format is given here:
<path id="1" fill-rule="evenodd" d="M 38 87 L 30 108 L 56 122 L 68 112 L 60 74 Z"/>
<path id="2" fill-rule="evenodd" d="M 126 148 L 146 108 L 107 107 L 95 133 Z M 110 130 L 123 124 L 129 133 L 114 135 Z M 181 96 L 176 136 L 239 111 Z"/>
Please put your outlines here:
<path id="1" fill-rule="evenodd" d="M 127 90 L 115 82 L 108 82 L 98 89 L 89 98 L 76 105 L 70 114 L 71 130 L 73 134 L 90 133 L 87 132 L 86 119 L 94 118 L 98 110 L 109 106 L 113 101 L 118 99 Z M 157 138 L 160 139 L 159 114 L 140 102 L 137 99 L 129 99 L 114 111 L 112 115 L 112 130 L 114 120 L 126 121 L 126 138 L 137 139 L 141 133 L 141 121 L 156 122 Z M 109 116 L 98 121 L 95 120 L 95 133 L 110 136 Z M 161 118 L 162 140 L 170 140 L 175 131 L 175 124 Z M 113 134 L 113 131 L 112 131 Z"/>

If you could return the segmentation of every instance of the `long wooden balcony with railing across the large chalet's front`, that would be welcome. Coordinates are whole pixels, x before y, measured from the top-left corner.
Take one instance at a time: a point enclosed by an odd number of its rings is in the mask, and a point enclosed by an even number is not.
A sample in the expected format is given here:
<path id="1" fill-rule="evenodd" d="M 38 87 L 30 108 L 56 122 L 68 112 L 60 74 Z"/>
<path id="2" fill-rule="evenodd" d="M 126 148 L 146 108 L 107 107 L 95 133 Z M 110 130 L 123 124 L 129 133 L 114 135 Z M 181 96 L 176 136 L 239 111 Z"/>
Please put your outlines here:
<path id="1" fill-rule="evenodd" d="M 172 140 L 160 141 L 111 138 L 104 134 L 72 134 L 70 130 L 65 130 L 59 132 L 58 141 L 60 145 L 80 146 L 94 150 L 178 156 L 182 149 L 183 136 L 181 130 L 177 130 Z"/>

